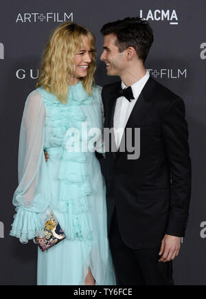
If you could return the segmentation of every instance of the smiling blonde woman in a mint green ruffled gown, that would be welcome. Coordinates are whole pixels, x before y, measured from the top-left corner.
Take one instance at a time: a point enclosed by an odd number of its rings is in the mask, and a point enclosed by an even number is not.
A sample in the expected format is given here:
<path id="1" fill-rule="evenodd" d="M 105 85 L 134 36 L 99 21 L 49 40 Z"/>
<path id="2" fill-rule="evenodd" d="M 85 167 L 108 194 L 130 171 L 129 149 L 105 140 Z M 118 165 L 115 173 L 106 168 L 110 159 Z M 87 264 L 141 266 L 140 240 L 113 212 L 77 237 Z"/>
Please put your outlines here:
<path id="1" fill-rule="evenodd" d="M 58 26 L 45 48 L 37 89 L 25 103 L 10 235 L 22 243 L 41 236 L 49 207 L 66 236 L 46 252 L 38 248 L 38 285 L 115 284 L 105 187 L 94 153 L 101 134 L 88 133 L 102 129 L 94 43 L 81 25 Z"/>

